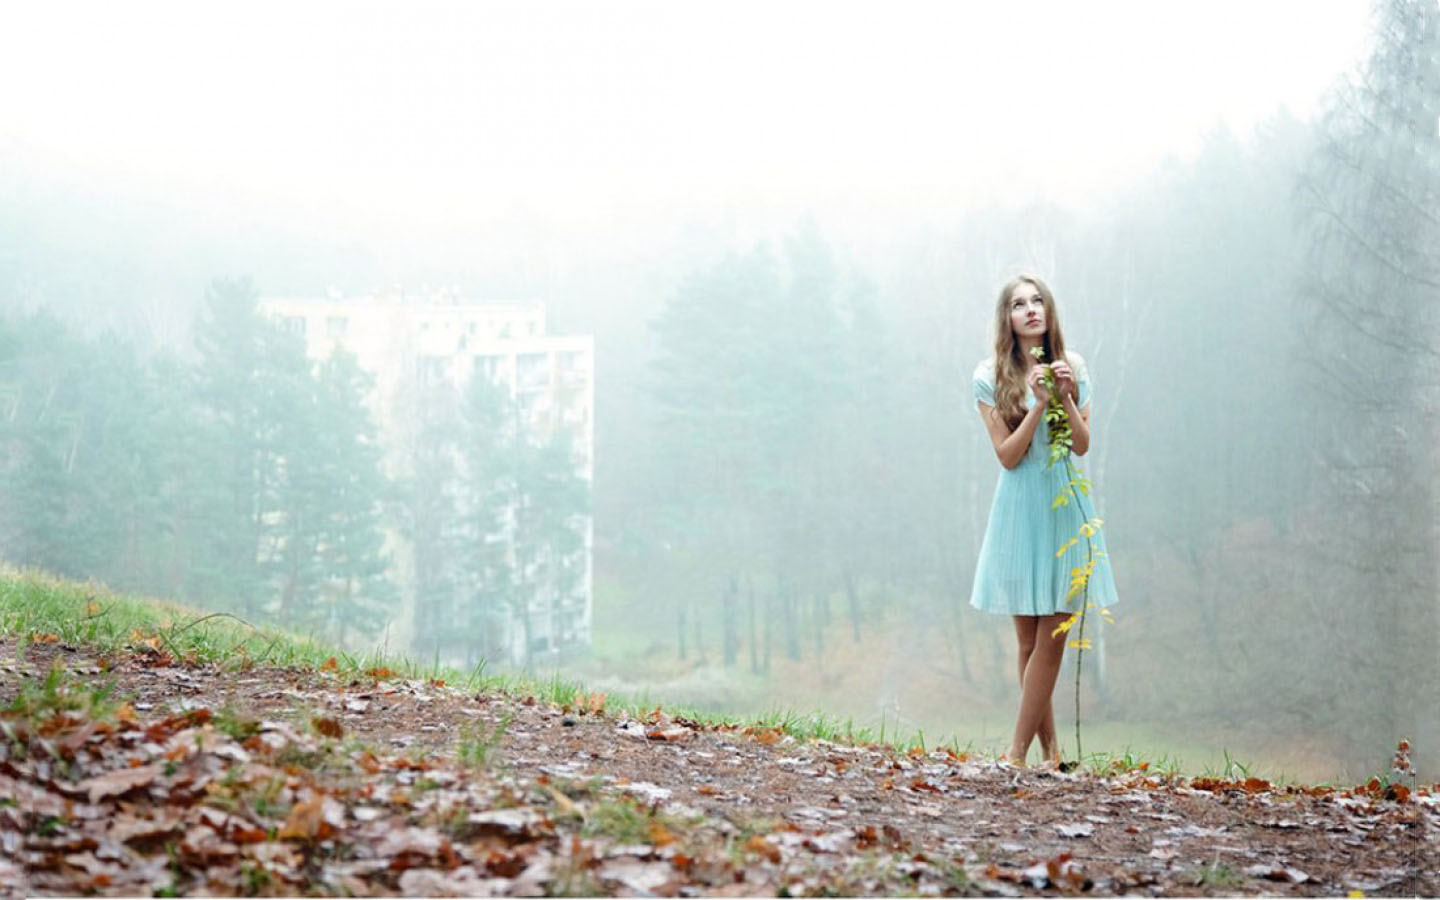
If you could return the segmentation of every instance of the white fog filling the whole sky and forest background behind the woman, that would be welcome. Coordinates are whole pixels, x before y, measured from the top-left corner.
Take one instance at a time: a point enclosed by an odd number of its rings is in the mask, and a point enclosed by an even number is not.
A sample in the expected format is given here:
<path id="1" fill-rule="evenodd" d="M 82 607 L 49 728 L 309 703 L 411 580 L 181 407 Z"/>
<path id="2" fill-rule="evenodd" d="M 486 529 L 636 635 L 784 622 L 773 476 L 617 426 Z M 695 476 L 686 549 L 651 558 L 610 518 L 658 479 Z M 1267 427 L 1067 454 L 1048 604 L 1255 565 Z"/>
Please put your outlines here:
<path id="1" fill-rule="evenodd" d="M 0 559 L 999 749 L 1018 690 L 1009 622 L 968 605 L 999 474 L 969 382 L 1030 271 L 1094 379 L 1081 467 L 1120 596 L 1086 750 L 1342 779 L 1405 737 L 1430 776 L 1436 17 L 22 10 Z M 593 336 L 593 436 L 527 446 L 495 425 L 518 395 L 386 393 L 262 315 L 442 291 Z M 537 641 L 557 596 L 585 628 Z"/>

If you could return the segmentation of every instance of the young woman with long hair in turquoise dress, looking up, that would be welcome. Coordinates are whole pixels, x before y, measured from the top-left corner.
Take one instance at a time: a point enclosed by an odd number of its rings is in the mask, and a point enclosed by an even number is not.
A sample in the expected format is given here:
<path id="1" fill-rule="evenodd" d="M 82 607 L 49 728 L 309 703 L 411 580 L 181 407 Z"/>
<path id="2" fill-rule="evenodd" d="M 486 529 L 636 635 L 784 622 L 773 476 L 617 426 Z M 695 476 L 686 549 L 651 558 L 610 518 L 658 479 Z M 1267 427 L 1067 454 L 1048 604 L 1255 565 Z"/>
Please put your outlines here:
<path id="1" fill-rule="evenodd" d="M 1034 347 L 1044 350 L 1041 360 L 1032 356 Z M 1080 354 L 1066 353 L 1050 288 L 1034 275 L 1020 275 L 1001 289 L 995 305 L 995 356 L 975 369 L 976 406 L 1004 469 L 971 592 L 972 606 L 1015 622 L 1021 698 L 1008 759 L 1020 766 L 1035 737 L 1045 760 L 1060 762 L 1050 696 L 1068 638 L 1051 632 L 1079 609 L 1080 599 L 1067 605 L 1066 595 L 1070 570 L 1086 562 L 1086 544 L 1081 540 L 1060 557 L 1056 552 L 1093 516 L 1090 498 L 1084 510 L 1074 503 L 1053 508 L 1067 475 L 1058 462 L 1045 465 L 1047 366 L 1070 416 L 1071 452 L 1083 456 L 1090 449 L 1090 376 Z M 1103 537 L 1093 540 L 1103 553 Z M 1100 557 L 1090 576 L 1089 599 L 1097 606 L 1116 602 L 1107 557 Z"/>

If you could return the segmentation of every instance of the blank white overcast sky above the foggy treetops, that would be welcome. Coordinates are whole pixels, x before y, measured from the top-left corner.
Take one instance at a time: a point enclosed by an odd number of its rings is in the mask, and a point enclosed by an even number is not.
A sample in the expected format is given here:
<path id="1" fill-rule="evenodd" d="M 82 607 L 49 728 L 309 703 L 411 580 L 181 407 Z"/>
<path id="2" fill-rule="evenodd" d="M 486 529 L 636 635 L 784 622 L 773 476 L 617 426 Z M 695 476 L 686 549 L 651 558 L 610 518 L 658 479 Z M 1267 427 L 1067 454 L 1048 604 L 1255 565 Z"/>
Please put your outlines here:
<path id="1" fill-rule="evenodd" d="M 23 3 L 0 161 L 412 235 L 1083 204 L 1217 124 L 1309 115 L 1367 26 L 1365 0 Z"/>

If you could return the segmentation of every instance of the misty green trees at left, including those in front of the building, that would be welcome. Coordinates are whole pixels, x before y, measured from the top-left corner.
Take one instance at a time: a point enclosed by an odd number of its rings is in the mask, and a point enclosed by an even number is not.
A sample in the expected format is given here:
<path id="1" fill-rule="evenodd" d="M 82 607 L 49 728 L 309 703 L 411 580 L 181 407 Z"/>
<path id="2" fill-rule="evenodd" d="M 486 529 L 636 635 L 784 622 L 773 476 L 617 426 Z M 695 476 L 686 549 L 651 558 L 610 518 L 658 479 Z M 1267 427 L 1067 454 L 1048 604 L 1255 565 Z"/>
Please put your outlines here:
<path id="1" fill-rule="evenodd" d="M 0 554 L 346 642 L 396 615 L 399 550 L 416 644 L 471 657 L 573 560 L 585 484 L 488 382 L 428 392 L 402 432 L 419 439 L 383 448 L 370 376 L 307 359 L 248 281 L 212 287 L 194 344 L 141 359 L 0 318 Z"/>

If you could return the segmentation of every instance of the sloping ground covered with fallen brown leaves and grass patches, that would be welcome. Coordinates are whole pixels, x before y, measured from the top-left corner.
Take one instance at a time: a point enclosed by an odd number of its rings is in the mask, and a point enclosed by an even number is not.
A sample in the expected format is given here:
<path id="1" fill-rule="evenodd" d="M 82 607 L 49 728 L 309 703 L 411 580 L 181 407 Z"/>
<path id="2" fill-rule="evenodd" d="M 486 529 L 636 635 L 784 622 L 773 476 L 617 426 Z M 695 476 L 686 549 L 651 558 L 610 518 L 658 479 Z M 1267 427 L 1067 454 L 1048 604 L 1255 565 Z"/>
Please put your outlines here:
<path id="1" fill-rule="evenodd" d="M 1440 894 L 1440 786 L 1017 770 L 0 641 L 0 887 L 46 894 Z M 1123 770 L 1122 770 L 1123 769 Z"/>

